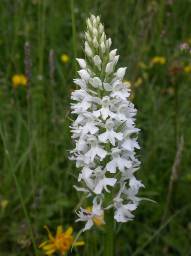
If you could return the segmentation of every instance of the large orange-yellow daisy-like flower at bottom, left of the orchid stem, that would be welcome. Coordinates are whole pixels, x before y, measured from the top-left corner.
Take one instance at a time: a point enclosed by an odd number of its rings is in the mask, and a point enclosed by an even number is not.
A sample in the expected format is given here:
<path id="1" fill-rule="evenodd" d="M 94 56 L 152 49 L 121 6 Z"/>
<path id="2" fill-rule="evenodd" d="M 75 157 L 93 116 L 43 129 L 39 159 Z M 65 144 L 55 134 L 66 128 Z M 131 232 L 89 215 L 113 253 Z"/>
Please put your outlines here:
<path id="1" fill-rule="evenodd" d="M 50 232 L 49 228 L 45 225 L 44 228 L 48 231 L 49 240 L 45 241 L 44 243 L 39 245 L 39 248 L 42 247 L 45 250 L 46 255 L 51 255 L 55 253 L 55 251 L 60 251 L 62 255 L 65 255 L 66 251 L 70 249 L 70 246 L 73 245 L 74 236 L 72 236 L 73 228 L 70 227 L 67 229 L 65 233 L 62 233 L 62 226 L 57 227 L 56 236 L 53 237 L 52 233 Z M 84 245 L 85 242 L 76 242 L 74 245 Z"/>

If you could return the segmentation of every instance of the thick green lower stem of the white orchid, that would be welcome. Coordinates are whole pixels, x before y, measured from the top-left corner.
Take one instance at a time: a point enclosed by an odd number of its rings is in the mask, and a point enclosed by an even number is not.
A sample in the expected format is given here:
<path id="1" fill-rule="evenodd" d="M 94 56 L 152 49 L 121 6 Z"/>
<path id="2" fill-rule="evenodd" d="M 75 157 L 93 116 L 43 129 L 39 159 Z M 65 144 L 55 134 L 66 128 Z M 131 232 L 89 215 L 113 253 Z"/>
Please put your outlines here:
<path id="1" fill-rule="evenodd" d="M 109 172 L 109 176 L 111 173 Z M 108 177 L 109 178 L 109 177 Z M 113 187 L 109 187 L 110 193 L 104 191 L 105 197 L 105 207 L 112 203 L 113 201 Z M 104 210 L 104 221 L 106 233 L 104 234 L 104 246 L 103 246 L 103 256 L 113 256 L 114 255 L 114 209 L 113 207 L 108 210 Z"/>

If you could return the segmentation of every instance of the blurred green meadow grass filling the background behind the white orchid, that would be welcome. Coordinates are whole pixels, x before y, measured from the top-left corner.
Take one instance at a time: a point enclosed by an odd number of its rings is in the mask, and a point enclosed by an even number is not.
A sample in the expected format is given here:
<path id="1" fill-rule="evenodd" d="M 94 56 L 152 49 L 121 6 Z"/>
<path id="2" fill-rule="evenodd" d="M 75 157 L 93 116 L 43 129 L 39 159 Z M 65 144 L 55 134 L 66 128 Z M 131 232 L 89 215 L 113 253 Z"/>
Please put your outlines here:
<path id="1" fill-rule="evenodd" d="M 127 66 L 125 79 L 131 81 L 132 101 L 138 109 L 136 127 L 141 129 L 138 154 L 142 164 L 136 177 L 146 189 L 139 196 L 158 202 L 142 201 L 133 222 L 122 225 L 115 237 L 115 255 L 190 256 L 191 55 L 181 52 L 179 44 L 187 42 L 191 48 L 191 2 L 74 0 L 73 5 L 76 24 L 69 0 L 0 1 L 0 256 L 36 255 L 23 204 L 36 247 L 48 239 L 43 225 L 54 234 L 58 225 L 64 230 L 72 226 L 75 235 L 83 226 L 75 223 L 74 209 L 85 197 L 72 187 L 79 170 L 68 160 L 67 150 L 73 143 L 67 116 L 76 78 L 74 55 L 77 51 L 78 58 L 84 57 L 81 45 L 90 12 L 101 15 L 106 35 L 112 38 L 111 49 L 118 48 L 117 66 Z M 26 41 L 33 62 L 30 128 L 26 86 L 12 84 L 13 75 L 25 72 Z M 49 75 L 51 49 L 54 84 Z M 62 54 L 69 56 L 67 63 L 61 61 Z M 164 57 L 165 63 L 154 61 L 156 56 Z M 176 156 L 182 135 L 183 150 Z M 102 255 L 100 234 L 86 233 L 81 235 L 81 240 L 89 237 L 86 247 L 68 255 Z M 37 250 L 39 256 L 44 255 L 42 249 Z"/>

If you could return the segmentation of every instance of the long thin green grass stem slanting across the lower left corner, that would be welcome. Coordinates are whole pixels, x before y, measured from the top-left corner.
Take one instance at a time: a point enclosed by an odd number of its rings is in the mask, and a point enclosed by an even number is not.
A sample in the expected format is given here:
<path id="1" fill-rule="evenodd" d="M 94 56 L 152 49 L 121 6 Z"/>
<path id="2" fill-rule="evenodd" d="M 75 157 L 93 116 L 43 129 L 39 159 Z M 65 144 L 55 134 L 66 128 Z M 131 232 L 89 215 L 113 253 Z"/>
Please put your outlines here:
<path id="1" fill-rule="evenodd" d="M 19 184 L 18 184 L 17 176 L 15 175 L 15 172 L 14 172 L 14 169 L 13 169 L 12 161 L 11 161 L 11 158 L 10 158 L 10 155 L 9 155 L 9 150 L 7 149 L 7 145 L 6 145 L 4 136 L 3 136 L 3 132 L 1 130 L 1 126 L 0 126 L 0 135 L 1 135 L 1 138 L 3 140 L 6 156 L 7 156 L 8 160 L 9 160 L 9 164 L 11 166 L 11 172 L 12 172 L 12 175 L 13 175 L 13 178 L 14 178 L 14 181 L 15 181 L 15 185 L 16 185 L 16 188 L 17 188 L 17 191 L 18 191 L 18 195 L 19 195 L 20 200 L 21 200 L 21 205 L 23 207 L 24 215 L 25 215 L 26 220 L 27 220 L 27 224 L 28 224 L 28 228 L 29 228 L 29 232 L 30 232 L 30 237 L 31 237 L 31 240 L 32 240 L 32 243 L 33 243 L 33 248 L 34 248 L 34 251 L 35 251 L 35 255 L 39 256 L 37 248 L 36 248 L 35 239 L 34 239 L 34 236 L 33 236 L 33 231 L 32 231 L 31 225 L 30 225 L 30 219 L 29 219 L 28 214 L 27 214 L 27 209 L 26 209 L 26 207 L 24 205 L 24 200 L 23 200 L 23 197 L 22 197 L 22 194 L 21 194 L 21 190 L 20 190 L 20 187 L 19 187 Z"/>

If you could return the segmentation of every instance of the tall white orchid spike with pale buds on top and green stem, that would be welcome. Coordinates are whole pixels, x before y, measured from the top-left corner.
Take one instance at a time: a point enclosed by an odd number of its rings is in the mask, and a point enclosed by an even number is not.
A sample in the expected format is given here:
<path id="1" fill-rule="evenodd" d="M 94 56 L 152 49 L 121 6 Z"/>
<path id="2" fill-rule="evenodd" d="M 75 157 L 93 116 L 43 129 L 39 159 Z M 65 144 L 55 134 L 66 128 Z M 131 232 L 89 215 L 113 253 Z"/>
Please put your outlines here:
<path id="1" fill-rule="evenodd" d="M 80 89 L 71 96 L 76 101 L 71 104 L 72 113 L 78 116 L 71 126 L 76 147 L 70 159 L 80 168 L 78 181 L 83 184 L 74 187 L 93 200 L 91 211 L 80 207 L 76 222 L 87 221 L 83 231 L 99 229 L 93 219 L 104 224 L 104 256 L 114 254 L 114 234 L 120 222 L 134 217 L 131 212 L 141 200 L 136 194 L 144 187 L 134 176 L 140 164 L 134 151 L 139 149 L 136 109 L 127 100 L 130 84 L 122 83 L 126 67 L 115 71 L 119 55 L 117 49 L 110 51 L 111 43 L 100 17 L 91 15 L 85 31 L 85 59 L 77 59 L 81 78 L 74 79 Z"/>

